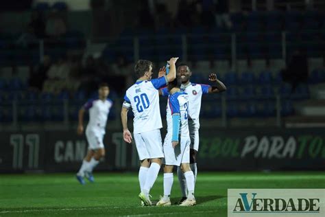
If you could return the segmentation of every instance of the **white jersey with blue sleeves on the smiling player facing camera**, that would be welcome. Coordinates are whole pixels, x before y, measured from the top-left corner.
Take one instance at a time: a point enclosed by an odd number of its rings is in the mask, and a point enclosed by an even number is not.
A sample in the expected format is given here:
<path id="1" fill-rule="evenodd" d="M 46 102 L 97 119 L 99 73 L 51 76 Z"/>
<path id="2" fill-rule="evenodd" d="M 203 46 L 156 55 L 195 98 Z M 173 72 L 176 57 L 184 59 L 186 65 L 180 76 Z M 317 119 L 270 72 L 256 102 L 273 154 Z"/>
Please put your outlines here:
<path id="1" fill-rule="evenodd" d="M 208 89 L 211 87 L 208 84 L 182 84 L 181 91 L 184 91 L 189 95 L 189 119 L 193 120 L 195 128 L 200 128 L 200 111 L 202 95 L 208 93 Z M 163 95 L 168 95 L 167 88 L 161 89 Z"/>

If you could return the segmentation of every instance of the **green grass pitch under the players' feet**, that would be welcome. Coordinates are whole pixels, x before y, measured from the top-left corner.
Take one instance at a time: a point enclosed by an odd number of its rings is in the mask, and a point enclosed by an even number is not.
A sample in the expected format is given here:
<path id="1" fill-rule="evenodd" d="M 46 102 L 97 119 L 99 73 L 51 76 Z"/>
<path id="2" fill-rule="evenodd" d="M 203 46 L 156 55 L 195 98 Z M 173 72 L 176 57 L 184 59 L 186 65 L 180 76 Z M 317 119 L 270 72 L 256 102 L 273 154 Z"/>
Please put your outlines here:
<path id="1" fill-rule="evenodd" d="M 5 174 L 0 216 L 227 216 L 228 188 L 325 188 L 325 172 L 200 172 L 195 207 L 141 207 L 136 173 L 95 173 L 84 186 L 72 173 Z M 163 194 L 161 173 L 151 194 Z M 179 198 L 174 176 L 172 203 Z"/>

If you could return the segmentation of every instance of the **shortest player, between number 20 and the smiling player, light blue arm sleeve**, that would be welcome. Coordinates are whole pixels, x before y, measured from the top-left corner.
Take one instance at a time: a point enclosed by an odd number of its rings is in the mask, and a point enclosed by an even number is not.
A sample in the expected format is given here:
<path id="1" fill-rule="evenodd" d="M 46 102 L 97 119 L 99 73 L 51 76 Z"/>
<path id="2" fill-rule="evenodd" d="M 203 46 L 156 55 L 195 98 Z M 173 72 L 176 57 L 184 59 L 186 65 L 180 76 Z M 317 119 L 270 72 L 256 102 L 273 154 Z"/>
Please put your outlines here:
<path id="1" fill-rule="evenodd" d="M 188 189 L 187 199 L 180 206 L 195 205 L 194 174 L 190 168 L 190 144 L 188 125 L 188 94 L 180 91 L 180 80 L 168 84 L 167 103 L 167 135 L 164 141 L 165 167 L 164 167 L 164 196 L 160 198 L 157 206 L 171 205 L 170 194 L 173 185 L 173 166 L 180 166 L 186 179 Z"/>

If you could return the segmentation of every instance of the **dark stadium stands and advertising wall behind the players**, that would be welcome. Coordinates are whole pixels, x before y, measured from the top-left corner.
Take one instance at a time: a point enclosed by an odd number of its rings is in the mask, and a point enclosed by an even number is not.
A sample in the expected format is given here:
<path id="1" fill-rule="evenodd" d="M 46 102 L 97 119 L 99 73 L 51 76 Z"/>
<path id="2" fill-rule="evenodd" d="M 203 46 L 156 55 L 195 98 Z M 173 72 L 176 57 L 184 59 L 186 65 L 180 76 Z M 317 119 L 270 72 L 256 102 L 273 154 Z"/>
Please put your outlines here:
<path id="1" fill-rule="evenodd" d="M 215 72 L 227 86 L 202 100 L 200 171 L 324 170 L 324 8 L 317 0 L 1 2 L 0 172 L 76 171 L 87 145 L 77 112 L 99 82 L 115 104 L 98 170 L 137 170 L 121 137 L 123 93 L 136 60 L 152 60 L 157 76 L 171 56 L 189 63 L 193 82 Z M 165 119 L 166 98 L 160 105 Z"/>

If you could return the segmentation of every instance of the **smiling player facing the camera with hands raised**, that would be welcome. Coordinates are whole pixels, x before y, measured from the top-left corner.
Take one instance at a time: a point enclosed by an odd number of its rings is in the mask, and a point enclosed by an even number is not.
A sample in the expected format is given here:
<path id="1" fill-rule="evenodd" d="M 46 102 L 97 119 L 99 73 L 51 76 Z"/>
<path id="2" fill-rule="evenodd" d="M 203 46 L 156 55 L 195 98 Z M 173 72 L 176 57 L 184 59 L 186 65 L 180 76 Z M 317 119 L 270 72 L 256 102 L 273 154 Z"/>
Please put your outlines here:
<path id="1" fill-rule="evenodd" d="M 160 73 L 160 76 L 163 75 Z M 190 82 L 190 77 L 192 75 L 189 66 L 181 63 L 177 69 L 177 76 L 182 80 L 182 85 L 180 89 L 189 95 L 189 133 L 191 137 L 191 149 L 190 149 L 190 165 L 191 170 L 194 172 L 195 180 L 197 177 L 197 161 L 196 155 L 199 150 L 199 129 L 200 129 L 200 110 L 202 95 L 208 93 L 221 93 L 226 91 L 226 86 L 223 82 L 217 79 L 215 73 L 211 73 L 209 76 L 210 82 L 215 85 L 210 86 L 208 84 L 195 84 Z M 168 95 L 167 88 L 160 89 L 161 95 Z M 182 192 L 182 199 L 179 203 L 186 200 L 186 179 L 184 173 L 178 167 L 178 180 L 180 181 L 180 189 Z"/>

